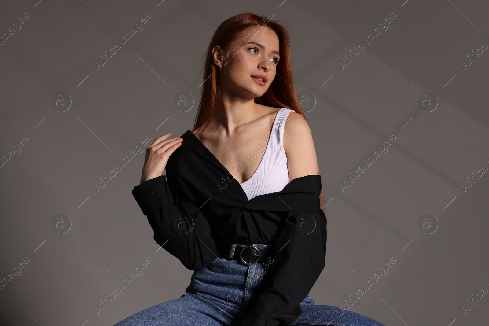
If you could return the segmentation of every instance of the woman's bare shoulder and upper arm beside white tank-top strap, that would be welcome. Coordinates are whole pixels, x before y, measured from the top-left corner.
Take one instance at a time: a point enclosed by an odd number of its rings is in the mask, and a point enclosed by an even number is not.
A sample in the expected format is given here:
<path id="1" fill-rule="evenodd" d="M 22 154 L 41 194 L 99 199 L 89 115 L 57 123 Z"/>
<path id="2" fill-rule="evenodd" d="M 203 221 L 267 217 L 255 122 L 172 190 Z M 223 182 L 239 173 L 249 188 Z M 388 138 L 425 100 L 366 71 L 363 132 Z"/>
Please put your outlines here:
<path id="1" fill-rule="evenodd" d="M 309 175 L 317 175 L 317 157 L 311 128 L 297 112 L 289 112 L 284 126 L 284 150 L 287 155 L 289 181 Z"/>

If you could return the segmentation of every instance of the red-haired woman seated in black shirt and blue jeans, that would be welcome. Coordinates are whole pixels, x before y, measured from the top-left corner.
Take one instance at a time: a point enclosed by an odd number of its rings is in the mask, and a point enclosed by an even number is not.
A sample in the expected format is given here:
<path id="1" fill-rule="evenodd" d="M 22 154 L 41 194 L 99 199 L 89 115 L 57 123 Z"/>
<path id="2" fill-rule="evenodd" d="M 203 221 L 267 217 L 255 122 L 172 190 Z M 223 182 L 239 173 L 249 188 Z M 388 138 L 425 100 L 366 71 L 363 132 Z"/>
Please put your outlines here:
<path id="1" fill-rule="evenodd" d="M 286 29 L 252 13 L 223 22 L 203 81 L 194 131 L 156 138 L 133 189 L 156 242 L 195 272 L 180 298 L 116 326 L 382 326 L 309 298 L 327 222 Z"/>

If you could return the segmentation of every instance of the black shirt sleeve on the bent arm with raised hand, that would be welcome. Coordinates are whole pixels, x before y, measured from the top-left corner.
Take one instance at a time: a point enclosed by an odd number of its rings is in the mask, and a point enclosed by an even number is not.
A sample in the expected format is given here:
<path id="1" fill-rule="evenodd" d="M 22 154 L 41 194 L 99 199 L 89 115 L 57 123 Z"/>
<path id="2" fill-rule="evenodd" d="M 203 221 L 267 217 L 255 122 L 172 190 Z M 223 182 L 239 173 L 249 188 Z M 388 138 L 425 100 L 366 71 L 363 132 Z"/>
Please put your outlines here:
<path id="1" fill-rule="evenodd" d="M 186 268 L 197 270 L 216 259 L 216 241 L 207 218 L 188 197 L 174 203 L 166 175 L 135 186 L 132 193 L 148 218 L 156 243 Z"/>

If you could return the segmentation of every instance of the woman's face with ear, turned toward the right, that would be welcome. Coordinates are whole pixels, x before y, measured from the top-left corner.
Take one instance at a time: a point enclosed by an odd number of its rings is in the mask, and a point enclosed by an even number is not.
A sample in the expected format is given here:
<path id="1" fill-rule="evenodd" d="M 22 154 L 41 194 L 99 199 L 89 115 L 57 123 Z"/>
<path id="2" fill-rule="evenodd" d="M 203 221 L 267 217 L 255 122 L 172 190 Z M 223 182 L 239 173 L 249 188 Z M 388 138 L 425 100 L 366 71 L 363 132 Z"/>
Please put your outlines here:
<path id="1" fill-rule="evenodd" d="M 275 79 L 280 59 L 279 45 L 277 34 L 264 25 L 245 30 L 229 52 L 216 45 L 213 56 L 214 63 L 221 66 L 220 89 L 242 98 L 265 94 Z"/>

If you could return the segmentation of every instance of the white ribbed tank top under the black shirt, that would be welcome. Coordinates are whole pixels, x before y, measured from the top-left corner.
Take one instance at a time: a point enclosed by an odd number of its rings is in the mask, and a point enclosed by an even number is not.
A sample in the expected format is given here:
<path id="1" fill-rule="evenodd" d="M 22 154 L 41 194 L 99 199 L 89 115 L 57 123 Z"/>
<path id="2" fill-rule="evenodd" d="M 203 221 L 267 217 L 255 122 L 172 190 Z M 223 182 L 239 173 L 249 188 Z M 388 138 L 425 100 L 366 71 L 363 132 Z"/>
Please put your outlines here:
<path id="1" fill-rule="evenodd" d="M 241 183 L 248 200 L 256 196 L 282 191 L 289 183 L 283 139 L 284 125 L 291 111 L 294 110 L 287 108 L 278 110 L 260 165 L 248 180 Z"/>

